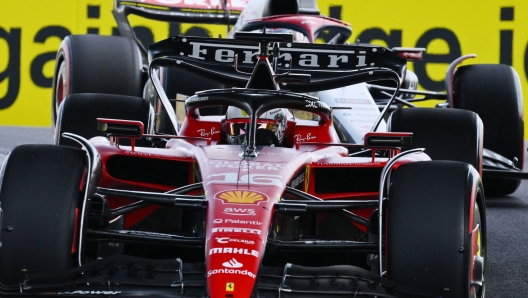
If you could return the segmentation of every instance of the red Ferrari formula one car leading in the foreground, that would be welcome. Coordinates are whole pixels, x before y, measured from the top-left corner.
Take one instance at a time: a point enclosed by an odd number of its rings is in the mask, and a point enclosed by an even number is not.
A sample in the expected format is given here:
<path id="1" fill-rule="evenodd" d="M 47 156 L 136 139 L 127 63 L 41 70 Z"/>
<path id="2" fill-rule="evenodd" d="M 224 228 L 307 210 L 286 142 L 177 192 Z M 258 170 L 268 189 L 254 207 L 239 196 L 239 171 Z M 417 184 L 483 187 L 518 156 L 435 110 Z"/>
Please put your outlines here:
<path id="1" fill-rule="evenodd" d="M 239 63 L 246 52 L 258 61 Z M 1 170 L 2 294 L 484 296 L 478 116 L 393 116 L 391 127 L 438 125 L 446 142 L 464 136 L 458 152 L 467 162 L 431 161 L 423 148 L 402 151 L 412 133 L 375 132 L 383 114 L 363 143 L 341 143 L 332 109 L 306 94 L 376 80 L 399 86 L 407 63 L 399 53 L 246 32 L 175 36 L 148 53 L 174 128 L 160 67 L 245 87 L 186 99 L 178 135 L 148 133 L 146 99 L 66 97 L 58 140 L 79 148 L 23 145 Z M 209 107 L 225 113 L 203 115 Z M 121 114 L 108 119 L 108 111 Z M 106 137 L 68 133 L 92 125 Z"/>

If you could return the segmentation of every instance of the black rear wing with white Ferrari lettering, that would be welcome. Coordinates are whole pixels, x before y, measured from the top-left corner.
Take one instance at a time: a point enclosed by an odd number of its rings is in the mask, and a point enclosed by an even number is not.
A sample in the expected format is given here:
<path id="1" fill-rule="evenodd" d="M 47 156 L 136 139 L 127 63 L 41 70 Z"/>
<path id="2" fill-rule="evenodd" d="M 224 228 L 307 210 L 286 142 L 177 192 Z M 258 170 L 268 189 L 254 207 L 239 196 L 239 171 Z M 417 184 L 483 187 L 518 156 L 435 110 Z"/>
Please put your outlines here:
<path id="1" fill-rule="evenodd" d="M 401 84 L 407 60 L 372 45 L 275 43 L 269 60 L 277 75 L 310 76 L 308 82 L 281 82 L 281 89 L 314 92 L 352 84 L 394 80 Z M 181 67 L 231 87 L 243 88 L 259 59 L 255 41 L 175 36 L 149 47 L 150 68 Z"/>

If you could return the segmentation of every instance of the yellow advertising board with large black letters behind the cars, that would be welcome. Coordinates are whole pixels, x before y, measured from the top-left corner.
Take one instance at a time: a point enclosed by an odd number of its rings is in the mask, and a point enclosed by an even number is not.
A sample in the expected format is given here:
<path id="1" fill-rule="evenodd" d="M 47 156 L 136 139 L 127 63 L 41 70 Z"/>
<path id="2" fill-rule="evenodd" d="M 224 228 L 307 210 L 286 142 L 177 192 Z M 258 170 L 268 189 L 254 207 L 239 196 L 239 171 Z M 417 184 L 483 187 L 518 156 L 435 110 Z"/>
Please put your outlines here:
<path id="1" fill-rule="evenodd" d="M 410 66 L 422 89 L 444 90 L 449 63 L 475 53 L 477 58 L 464 64 L 512 65 L 528 98 L 528 1 L 318 0 L 318 5 L 323 14 L 352 25 L 350 42 L 425 47 L 425 62 Z M 51 81 L 62 38 L 113 34 L 112 8 L 113 0 L 2 1 L 0 125 L 51 126 Z M 134 16 L 131 23 L 152 40 L 196 30 L 210 36 L 226 33 L 220 25 L 169 25 Z"/>

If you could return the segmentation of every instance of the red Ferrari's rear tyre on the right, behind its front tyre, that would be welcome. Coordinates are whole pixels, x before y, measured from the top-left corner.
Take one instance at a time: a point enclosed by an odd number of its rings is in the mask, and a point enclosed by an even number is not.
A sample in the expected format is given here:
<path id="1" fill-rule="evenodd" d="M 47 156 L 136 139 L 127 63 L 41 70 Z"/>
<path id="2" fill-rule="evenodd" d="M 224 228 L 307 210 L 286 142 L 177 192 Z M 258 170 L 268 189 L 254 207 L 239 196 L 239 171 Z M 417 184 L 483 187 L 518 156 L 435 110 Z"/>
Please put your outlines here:
<path id="1" fill-rule="evenodd" d="M 412 132 L 412 148 L 425 148 L 433 160 L 454 160 L 482 172 L 482 121 L 457 109 L 398 109 L 387 123 L 391 132 Z"/>

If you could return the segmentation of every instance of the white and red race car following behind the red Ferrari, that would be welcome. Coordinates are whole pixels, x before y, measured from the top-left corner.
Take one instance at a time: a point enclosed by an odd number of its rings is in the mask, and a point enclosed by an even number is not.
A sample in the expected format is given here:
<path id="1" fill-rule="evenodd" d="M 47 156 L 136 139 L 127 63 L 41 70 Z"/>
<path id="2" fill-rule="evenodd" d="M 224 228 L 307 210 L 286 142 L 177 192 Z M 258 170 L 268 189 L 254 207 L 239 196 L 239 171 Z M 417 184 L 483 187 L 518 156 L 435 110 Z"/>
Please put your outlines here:
<path id="1" fill-rule="evenodd" d="M 61 102 L 70 94 L 106 93 L 128 95 L 148 99 L 154 108 L 154 125 L 147 126 L 149 133 L 178 134 L 181 118 L 178 121 L 169 119 L 161 98 L 154 90 L 147 75 L 148 55 L 146 47 L 139 42 L 129 21 L 128 15 L 134 14 L 155 20 L 168 22 L 191 22 L 208 24 L 226 24 L 232 27 L 228 38 L 234 32 L 250 31 L 288 32 L 294 34 L 296 42 L 314 43 L 324 40 L 328 44 L 344 44 L 352 34 L 349 24 L 340 20 L 319 15 L 317 4 L 313 0 L 292 1 L 115 1 L 113 11 L 121 36 L 71 35 L 64 39 L 59 51 L 53 80 L 53 124 L 57 123 L 57 115 Z M 233 25 L 234 24 L 234 25 Z M 420 60 L 424 49 L 394 48 L 409 60 Z M 242 53 L 241 64 L 255 63 L 256 56 L 251 52 Z M 309 54 L 306 54 L 309 55 Z M 221 56 L 222 57 L 222 56 Z M 308 56 L 307 56 L 308 57 Z M 333 109 L 333 123 L 344 143 L 363 143 L 364 135 L 377 123 L 381 113 L 388 116 L 390 112 L 403 106 L 415 107 L 413 103 L 429 99 L 445 100 L 438 105 L 441 108 L 457 108 L 476 112 L 483 122 L 484 151 L 482 161 L 475 164 L 477 169 L 483 168 L 484 184 L 488 195 L 506 195 L 513 193 L 521 179 L 528 179 L 523 172 L 524 165 L 524 116 L 522 93 L 517 73 L 506 65 L 469 65 L 459 66 L 468 55 L 457 59 L 447 70 L 446 93 L 417 90 L 418 80 L 414 73 L 407 70 L 403 74 L 400 88 L 395 88 L 391 81 L 376 81 L 359 83 L 340 88 L 326 88 L 310 93 Z M 334 62 L 345 59 L 340 55 L 334 57 Z M 305 65 L 316 67 L 317 63 L 310 59 L 303 60 Z M 358 60 L 358 65 L 365 61 Z M 334 65 L 335 68 L 336 65 Z M 175 109 L 178 102 L 177 94 L 190 96 L 195 92 L 219 89 L 225 86 L 218 81 L 203 76 L 196 76 L 184 69 L 160 67 L 160 82 L 166 91 L 167 100 Z M 247 76 L 246 76 L 247 77 Z M 89 78 L 89 79 L 87 79 Z M 244 87 L 245 81 L 237 82 L 235 87 Z M 230 86 L 232 87 L 232 86 Z M 392 94 L 397 92 L 394 104 L 389 112 L 383 112 Z M 125 113 L 129 119 L 147 123 L 146 116 L 137 113 L 135 103 L 124 100 L 123 105 L 130 105 L 127 112 L 117 110 L 104 113 L 108 118 L 121 118 Z M 132 112 L 136 111 L 136 112 Z M 414 113 L 429 113 L 420 109 Z M 131 114 L 132 113 L 132 114 Z M 225 115 L 226 110 L 219 107 L 202 109 L 202 115 Z M 130 118 L 134 116 L 133 118 Z M 422 117 L 422 116 L 418 116 Z M 92 117 L 93 118 L 93 117 Z M 416 143 L 417 147 L 434 147 L 428 149 L 433 159 L 452 159 L 455 151 L 464 139 L 454 138 L 453 146 L 440 144 L 435 140 L 442 127 L 433 130 L 419 130 L 422 126 L 389 127 L 387 117 L 377 127 L 377 131 L 409 131 L 424 134 L 424 143 Z M 94 121 L 94 120 L 92 120 Z M 177 122 L 177 126 L 172 125 Z M 455 125 L 452 123 L 451 125 Z M 418 130 L 416 130 L 418 129 Z M 95 126 L 78 125 L 74 131 L 86 138 L 102 133 Z M 59 133 L 56 134 L 59 137 Z M 311 138 L 311 137 L 308 137 Z M 156 140 L 154 140 L 156 141 Z M 58 140 L 56 140 L 58 142 Z M 71 142 L 63 140 L 62 142 Z M 124 141 L 126 142 L 126 141 Z M 140 145 L 150 145 L 139 141 Z M 72 143 L 70 143 L 72 144 Z M 129 144 L 129 143 L 128 143 Z M 450 143 L 451 144 L 451 143 Z M 438 146 L 440 145 L 440 147 Z"/>

